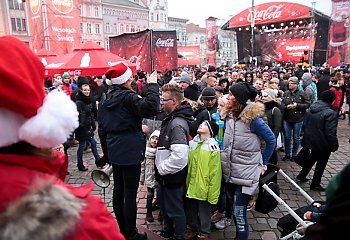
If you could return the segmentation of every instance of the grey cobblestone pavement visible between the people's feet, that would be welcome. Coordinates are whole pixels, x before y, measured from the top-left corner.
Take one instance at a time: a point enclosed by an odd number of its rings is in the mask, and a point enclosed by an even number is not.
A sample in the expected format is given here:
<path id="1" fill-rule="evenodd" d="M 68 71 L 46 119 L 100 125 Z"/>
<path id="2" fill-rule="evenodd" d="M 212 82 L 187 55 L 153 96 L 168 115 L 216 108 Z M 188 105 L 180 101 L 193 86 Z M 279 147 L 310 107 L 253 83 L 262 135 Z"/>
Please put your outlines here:
<path id="1" fill-rule="evenodd" d="M 339 121 L 338 126 L 338 139 L 339 139 L 339 150 L 332 153 L 330 160 L 327 164 L 324 176 L 322 178 L 322 185 L 326 186 L 329 180 L 338 173 L 342 167 L 349 161 L 350 154 L 350 126 L 347 125 L 347 120 Z M 99 146 L 98 146 L 99 147 Z M 84 161 L 88 165 L 89 171 L 80 172 L 76 167 L 76 150 L 77 147 L 72 147 L 69 149 L 69 172 L 70 175 L 67 176 L 66 181 L 74 186 L 80 186 L 82 184 L 91 182 L 91 171 L 95 169 L 94 159 L 91 153 L 84 153 Z M 280 154 L 283 157 L 283 153 Z M 299 173 L 300 167 L 290 161 L 279 161 L 279 167 L 288 174 L 292 179 Z M 310 173 L 309 178 L 312 177 L 313 171 Z M 298 191 L 285 179 L 279 175 L 278 183 L 280 186 L 280 197 L 286 201 L 286 203 L 292 208 L 297 209 L 301 206 L 307 205 L 306 199 L 298 193 Z M 315 191 L 311 191 L 309 188 L 309 183 L 301 183 L 300 186 L 314 199 L 314 200 L 325 200 L 325 194 Z M 101 196 L 104 200 L 108 209 L 112 212 L 112 187 L 113 181 L 111 178 L 111 184 L 104 191 L 95 186 L 93 194 Z M 137 212 L 137 224 L 148 228 L 151 231 L 158 231 L 161 229 L 160 223 L 155 220 L 153 223 L 147 223 L 146 221 L 146 195 L 147 189 L 144 186 L 139 187 L 137 194 L 138 212 Z M 158 212 L 155 211 L 154 217 L 158 216 Z M 277 221 L 284 215 L 287 214 L 287 210 L 279 205 L 273 212 L 269 214 L 261 214 L 255 212 L 254 210 L 248 212 L 248 221 L 250 225 L 249 239 L 264 239 L 264 240 L 274 240 L 278 239 L 280 232 L 277 229 Z M 234 223 L 227 227 L 225 230 L 212 230 L 210 234 L 210 239 L 233 239 L 235 237 L 235 226 Z"/>

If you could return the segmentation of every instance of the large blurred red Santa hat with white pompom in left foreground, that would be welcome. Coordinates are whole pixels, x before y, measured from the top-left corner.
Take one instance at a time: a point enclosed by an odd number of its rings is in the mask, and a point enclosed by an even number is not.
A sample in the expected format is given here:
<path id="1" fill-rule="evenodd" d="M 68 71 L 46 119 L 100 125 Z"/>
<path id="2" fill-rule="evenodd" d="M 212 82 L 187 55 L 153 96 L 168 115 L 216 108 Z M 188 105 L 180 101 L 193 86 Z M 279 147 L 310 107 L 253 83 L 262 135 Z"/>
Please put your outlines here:
<path id="1" fill-rule="evenodd" d="M 24 42 L 0 38 L 0 147 L 25 141 L 53 148 L 78 127 L 78 111 L 65 93 L 45 96 L 44 71 Z"/>

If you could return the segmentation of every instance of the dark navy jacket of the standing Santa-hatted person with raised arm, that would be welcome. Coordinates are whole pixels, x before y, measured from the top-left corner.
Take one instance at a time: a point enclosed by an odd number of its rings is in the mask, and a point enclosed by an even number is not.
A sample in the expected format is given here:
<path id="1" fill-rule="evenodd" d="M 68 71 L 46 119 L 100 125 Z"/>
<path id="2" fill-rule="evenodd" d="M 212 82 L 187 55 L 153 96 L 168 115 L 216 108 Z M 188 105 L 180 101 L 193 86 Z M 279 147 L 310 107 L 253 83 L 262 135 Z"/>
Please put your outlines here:
<path id="1" fill-rule="evenodd" d="M 144 160 L 146 138 L 142 132 L 142 119 L 157 114 L 159 88 L 148 84 L 144 97 L 120 85 L 112 85 L 103 100 L 99 120 L 107 134 L 110 163 L 136 165 Z"/>

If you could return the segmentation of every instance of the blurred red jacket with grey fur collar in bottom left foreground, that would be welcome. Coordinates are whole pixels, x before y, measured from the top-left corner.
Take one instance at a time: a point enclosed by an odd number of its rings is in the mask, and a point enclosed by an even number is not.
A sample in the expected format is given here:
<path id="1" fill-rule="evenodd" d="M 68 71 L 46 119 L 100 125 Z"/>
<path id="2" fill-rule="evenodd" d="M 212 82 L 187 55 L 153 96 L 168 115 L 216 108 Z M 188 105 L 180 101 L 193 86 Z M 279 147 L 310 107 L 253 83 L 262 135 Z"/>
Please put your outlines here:
<path id="1" fill-rule="evenodd" d="M 0 154 L 0 239 L 124 240 L 93 183 L 63 182 L 67 163 L 61 153 Z"/>

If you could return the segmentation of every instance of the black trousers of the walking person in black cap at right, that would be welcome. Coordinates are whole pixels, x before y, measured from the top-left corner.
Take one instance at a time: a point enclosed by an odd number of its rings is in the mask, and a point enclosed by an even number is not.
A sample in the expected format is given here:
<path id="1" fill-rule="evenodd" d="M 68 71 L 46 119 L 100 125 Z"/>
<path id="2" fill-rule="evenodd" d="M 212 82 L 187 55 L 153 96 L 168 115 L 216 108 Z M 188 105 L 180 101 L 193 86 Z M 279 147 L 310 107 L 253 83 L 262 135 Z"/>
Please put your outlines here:
<path id="1" fill-rule="evenodd" d="M 305 164 L 305 167 L 300 171 L 299 176 L 304 178 L 311 171 L 312 166 L 316 162 L 314 176 L 311 181 L 311 186 L 316 187 L 320 185 L 323 172 L 327 166 L 328 159 L 331 155 L 329 151 L 316 151 L 311 149 L 310 160 Z"/>

